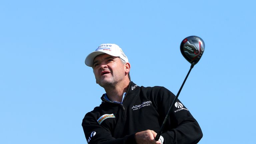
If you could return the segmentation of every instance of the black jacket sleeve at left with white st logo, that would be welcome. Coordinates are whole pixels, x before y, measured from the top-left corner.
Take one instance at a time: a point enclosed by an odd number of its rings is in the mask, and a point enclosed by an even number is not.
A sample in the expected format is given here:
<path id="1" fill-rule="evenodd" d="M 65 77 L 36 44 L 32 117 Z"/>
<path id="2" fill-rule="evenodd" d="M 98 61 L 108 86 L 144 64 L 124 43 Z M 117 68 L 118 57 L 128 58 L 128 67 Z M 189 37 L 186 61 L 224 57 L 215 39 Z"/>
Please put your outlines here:
<path id="1" fill-rule="evenodd" d="M 116 139 L 110 131 L 100 126 L 90 113 L 85 115 L 82 127 L 88 144 L 136 144 L 135 133 Z"/>

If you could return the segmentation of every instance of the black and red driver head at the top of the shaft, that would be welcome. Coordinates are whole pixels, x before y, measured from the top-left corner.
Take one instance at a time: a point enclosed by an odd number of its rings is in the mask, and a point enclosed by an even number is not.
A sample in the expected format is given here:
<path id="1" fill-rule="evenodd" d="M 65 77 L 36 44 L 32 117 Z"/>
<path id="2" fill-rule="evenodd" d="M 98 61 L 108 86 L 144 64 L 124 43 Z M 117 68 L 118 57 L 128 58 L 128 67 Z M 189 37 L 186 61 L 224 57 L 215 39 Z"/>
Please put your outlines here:
<path id="1" fill-rule="evenodd" d="M 204 53 L 204 41 L 198 36 L 186 37 L 180 44 L 184 58 L 192 65 L 197 64 Z"/>

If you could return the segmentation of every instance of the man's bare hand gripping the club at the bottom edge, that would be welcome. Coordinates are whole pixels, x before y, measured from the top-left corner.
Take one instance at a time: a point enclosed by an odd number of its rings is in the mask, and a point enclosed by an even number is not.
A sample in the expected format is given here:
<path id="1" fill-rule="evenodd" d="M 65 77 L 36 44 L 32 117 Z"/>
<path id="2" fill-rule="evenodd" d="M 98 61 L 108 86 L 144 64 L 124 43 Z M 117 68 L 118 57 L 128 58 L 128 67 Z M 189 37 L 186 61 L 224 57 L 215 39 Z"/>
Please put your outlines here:
<path id="1" fill-rule="evenodd" d="M 156 141 L 157 133 L 153 130 L 145 130 L 142 132 L 137 132 L 135 134 L 135 141 L 137 144 L 161 144 L 161 141 Z"/>

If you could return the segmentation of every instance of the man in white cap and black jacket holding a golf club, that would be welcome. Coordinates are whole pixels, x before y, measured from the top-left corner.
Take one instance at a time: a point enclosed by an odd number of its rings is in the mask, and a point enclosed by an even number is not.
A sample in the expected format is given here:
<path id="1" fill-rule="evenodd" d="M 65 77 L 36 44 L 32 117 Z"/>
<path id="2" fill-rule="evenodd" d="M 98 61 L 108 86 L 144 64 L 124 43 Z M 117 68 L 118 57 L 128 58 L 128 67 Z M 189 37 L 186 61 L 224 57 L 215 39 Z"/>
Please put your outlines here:
<path id="1" fill-rule="evenodd" d="M 164 87 L 133 83 L 131 65 L 118 45 L 100 45 L 85 64 L 106 91 L 100 106 L 83 119 L 88 144 L 194 144 L 202 138 L 197 121 L 177 100 L 160 139 L 154 139 L 175 95 Z"/>

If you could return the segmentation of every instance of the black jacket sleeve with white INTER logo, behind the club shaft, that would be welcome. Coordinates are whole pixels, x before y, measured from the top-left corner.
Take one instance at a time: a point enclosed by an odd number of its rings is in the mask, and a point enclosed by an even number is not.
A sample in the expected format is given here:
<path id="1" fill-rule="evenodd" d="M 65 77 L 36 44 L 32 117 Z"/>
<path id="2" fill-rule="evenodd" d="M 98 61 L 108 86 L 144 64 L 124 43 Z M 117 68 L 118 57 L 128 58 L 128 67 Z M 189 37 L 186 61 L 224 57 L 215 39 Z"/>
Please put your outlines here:
<path id="1" fill-rule="evenodd" d="M 158 112 L 162 124 L 175 95 L 162 87 L 157 96 Z M 196 144 L 203 137 L 203 133 L 197 121 L 188 109 L 179 101 L 170 112 L 163 133 L 165 144 Z M 160 125 L 161 126 L 161 125 Z"/>

